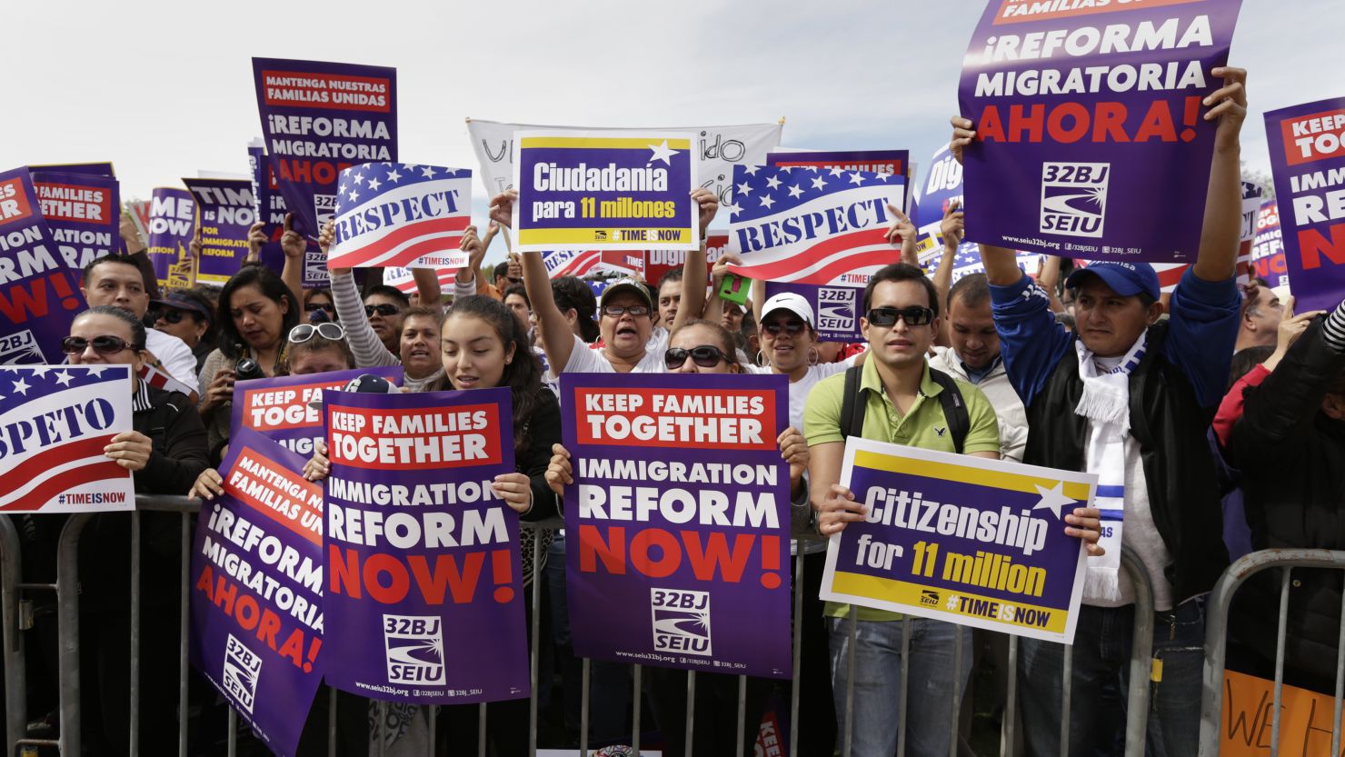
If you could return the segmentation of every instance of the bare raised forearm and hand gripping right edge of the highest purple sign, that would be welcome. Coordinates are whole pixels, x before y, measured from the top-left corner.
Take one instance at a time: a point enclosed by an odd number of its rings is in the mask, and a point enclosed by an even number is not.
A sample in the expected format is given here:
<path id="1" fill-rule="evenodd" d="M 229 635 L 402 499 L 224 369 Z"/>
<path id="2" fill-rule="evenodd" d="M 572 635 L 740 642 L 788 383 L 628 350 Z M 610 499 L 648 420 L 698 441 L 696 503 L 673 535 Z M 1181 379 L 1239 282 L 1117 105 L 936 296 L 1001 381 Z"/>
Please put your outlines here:
<path id="1" fill-rule="evenodd" d="M 1219 129 L 1215 156 L 1209 163 L 1205 221 L 1193 272 L 1205 281 L 1224 281 L 1236 269 L 1241 234 L 1241 145 L 1237 136 L 1247 120 L 1247 71 L 1223 67 L 1210 74 L 1223 77 L 1224 86 L 1205 98 L 1209 106 L 1205 120 L 1219 121 Z"/>

